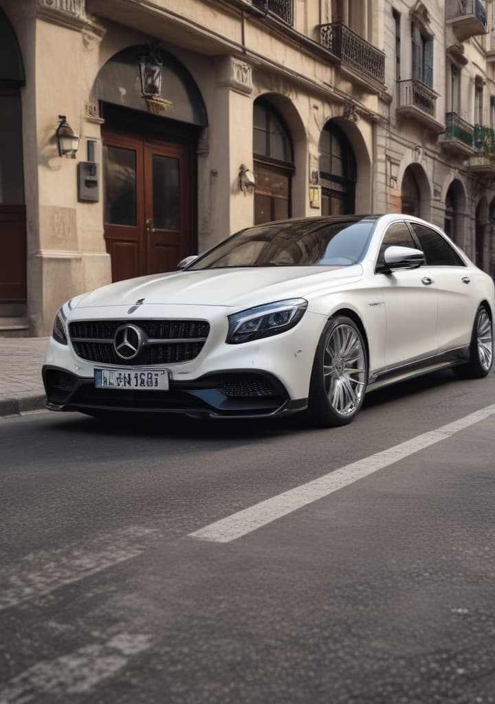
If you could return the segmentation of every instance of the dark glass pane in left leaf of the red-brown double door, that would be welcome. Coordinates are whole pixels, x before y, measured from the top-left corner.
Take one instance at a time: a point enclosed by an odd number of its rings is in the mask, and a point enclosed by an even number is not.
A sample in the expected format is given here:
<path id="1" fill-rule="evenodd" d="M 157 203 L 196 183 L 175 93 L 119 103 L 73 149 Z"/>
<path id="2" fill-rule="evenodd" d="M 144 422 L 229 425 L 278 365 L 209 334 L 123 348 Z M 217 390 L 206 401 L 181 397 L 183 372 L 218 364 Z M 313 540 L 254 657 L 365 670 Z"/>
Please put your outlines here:
<path id="1" fill-rule="evenodd" d="M 105 222 L 136 227 L 136 152 L 104 147 Z"/>

